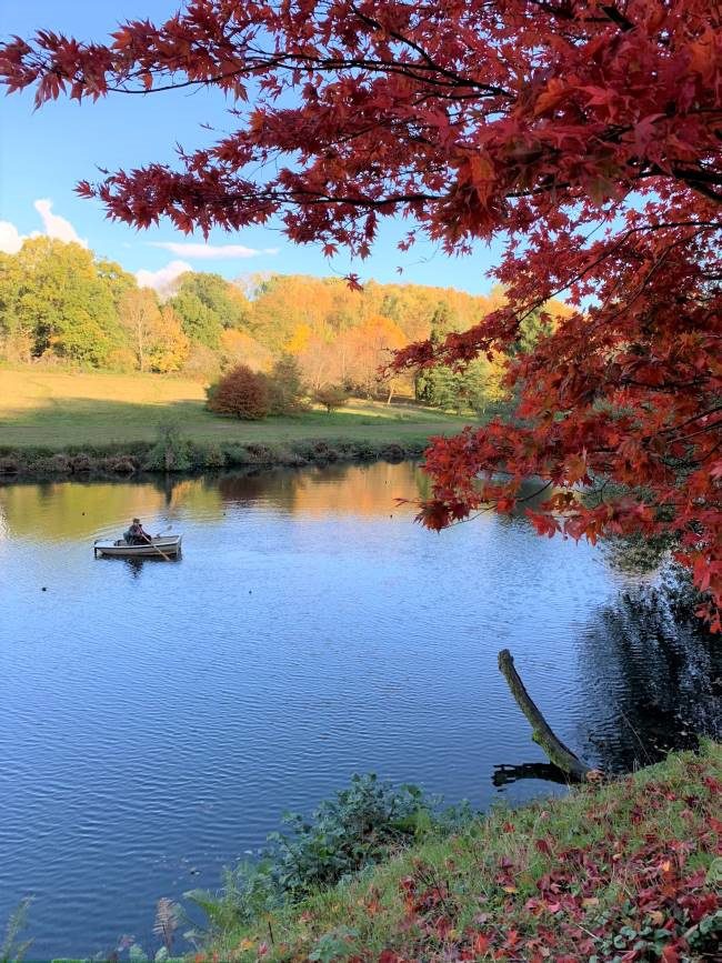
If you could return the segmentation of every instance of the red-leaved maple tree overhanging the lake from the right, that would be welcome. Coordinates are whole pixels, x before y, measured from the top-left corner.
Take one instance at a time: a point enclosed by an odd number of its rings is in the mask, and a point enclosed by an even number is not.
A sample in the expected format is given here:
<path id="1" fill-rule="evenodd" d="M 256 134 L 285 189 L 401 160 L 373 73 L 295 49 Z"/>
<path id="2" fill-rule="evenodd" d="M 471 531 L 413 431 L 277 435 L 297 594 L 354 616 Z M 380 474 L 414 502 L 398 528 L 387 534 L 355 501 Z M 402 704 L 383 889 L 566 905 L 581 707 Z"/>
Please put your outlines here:
<path id="1" fill-rule="evenodd" d="M 293 241 L 360 257 L 389 215 L 450 253 L 501 234 L 507 305 L 397 364 L 504 352 L 554 294 L 576 310 L 513 355 L 511 427 L 433 442 L 422 520 L 511 511 L 541 478 L 540 532 L 672 536 L 720 630 L 721 19 L 710 0 L 188 0 L 108 44 L 13 38 L 0 78 L 38 103 L 233 99 L 238 129 L 176 169 L 80 184 L 128 223 L 280 217 Z"/>

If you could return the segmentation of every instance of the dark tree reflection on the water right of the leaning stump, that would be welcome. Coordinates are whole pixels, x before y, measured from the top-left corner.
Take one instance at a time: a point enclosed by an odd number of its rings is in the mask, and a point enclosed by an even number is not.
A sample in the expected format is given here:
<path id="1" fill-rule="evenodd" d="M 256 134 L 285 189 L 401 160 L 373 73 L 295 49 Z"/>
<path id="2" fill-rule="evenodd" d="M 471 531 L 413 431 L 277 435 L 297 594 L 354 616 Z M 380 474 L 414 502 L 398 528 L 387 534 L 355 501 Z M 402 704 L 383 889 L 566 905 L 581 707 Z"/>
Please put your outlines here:
<path id="1" fill-rule="evenodd" d="M 580 640 L 582 753 L 608 772 L 722 733 L 722 652 L 668 575 L 622 593 Z"/>

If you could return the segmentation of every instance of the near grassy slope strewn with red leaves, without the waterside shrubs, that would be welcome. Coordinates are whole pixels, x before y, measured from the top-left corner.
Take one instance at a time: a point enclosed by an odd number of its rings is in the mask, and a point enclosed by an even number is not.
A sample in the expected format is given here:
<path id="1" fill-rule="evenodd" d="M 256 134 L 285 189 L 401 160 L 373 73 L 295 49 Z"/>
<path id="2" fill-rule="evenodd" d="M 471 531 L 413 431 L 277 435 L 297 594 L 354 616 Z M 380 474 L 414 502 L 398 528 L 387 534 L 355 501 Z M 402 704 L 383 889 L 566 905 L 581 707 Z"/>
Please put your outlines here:
<path id="1" fill-rule="evenodd" d="M 495 811 L 252 926 L 205 961 L 720 959 L 722 748 Z"/>

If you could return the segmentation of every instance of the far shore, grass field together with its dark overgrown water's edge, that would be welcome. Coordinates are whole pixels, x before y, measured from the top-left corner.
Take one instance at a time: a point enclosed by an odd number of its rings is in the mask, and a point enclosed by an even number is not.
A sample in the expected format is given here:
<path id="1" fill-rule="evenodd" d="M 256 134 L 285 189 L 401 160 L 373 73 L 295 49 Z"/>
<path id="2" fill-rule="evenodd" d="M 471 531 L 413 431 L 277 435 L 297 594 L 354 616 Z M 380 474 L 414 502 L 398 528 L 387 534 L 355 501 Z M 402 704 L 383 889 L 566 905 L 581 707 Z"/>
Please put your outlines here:
<path id="1" fill-rule="evenodd" d="M 209 412 L 194 381 L 0 370 L 0 478 L 400 461 L 468 422 L 431 408 L 359 399 L 331 413 L 243 422 Z M 166 450 L 169 432 L 181 451 Z"/>

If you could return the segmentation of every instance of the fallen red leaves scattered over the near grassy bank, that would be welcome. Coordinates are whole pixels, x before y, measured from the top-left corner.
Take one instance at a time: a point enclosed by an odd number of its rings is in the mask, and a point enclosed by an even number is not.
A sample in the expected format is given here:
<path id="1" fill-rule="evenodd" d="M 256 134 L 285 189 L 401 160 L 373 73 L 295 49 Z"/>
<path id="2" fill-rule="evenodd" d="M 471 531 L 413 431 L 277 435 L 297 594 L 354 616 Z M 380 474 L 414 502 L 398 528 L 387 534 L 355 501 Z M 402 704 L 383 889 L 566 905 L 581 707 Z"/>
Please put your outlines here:
<path id="1" fill-rule="evenodd" d="M 722 786 L 706 779 L 709 795 L 689 801 L 694 812 L 683 811 L 690 825 L 682 840 L 665 839 L 660 825 L 659 832 L 645 834 L 643 844 L 634 844 L 614 835 L 609 815 L 592 811 L 590 820 L 599 820 L 606 834 L 589 849 L 563 850 L 551 837 L 535 841 L 537 851 L 554 869 L 539 880 L 538 895 L 525 900 L 517 883 L 528 866 L 523 861 L 502 859 L 498 892 L 482 896 L 485 911 L 463 931 L 458 926 L 451 880 L 418 864 L 414 874 L 400 883 L 407 920 L 399 949 L 384 950 L 378 963 L 421 959 L 578 963 L 590 957 L 678 963 L 696 959 L 690 943 L 695 929 L 721 906 L 719 893 L 691 859 L 700 851 L 721 852 L 722 823 L 712 813 Z M 675 788 L 650 783 L 639 821 L 678 800 L 686 802 Z M 449 875 L 453 876 L 453 866 Z M 604 894 L 615 884 L 618 899 L 610 905 Z M 604 897 L 603 913 L 600 896 Z M 714 939 L 712 933 L 709 947 Z"/>

